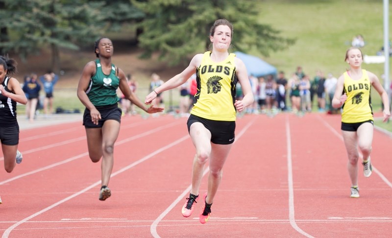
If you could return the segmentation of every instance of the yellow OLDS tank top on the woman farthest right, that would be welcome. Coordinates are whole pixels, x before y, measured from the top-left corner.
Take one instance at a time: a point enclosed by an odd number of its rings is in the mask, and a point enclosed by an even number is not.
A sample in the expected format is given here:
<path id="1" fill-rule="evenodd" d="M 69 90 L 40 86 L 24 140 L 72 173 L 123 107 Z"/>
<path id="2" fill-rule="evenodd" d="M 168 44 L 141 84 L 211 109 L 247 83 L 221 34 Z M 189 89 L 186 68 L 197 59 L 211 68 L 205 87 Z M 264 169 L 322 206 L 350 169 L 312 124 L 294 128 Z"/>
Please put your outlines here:
<path id="1" fill-rule="evenodd" d="M 347 72 L 344 76 L 344 93 L 347 100 L 343 104 L 342 122 L 357 123 L 373 119 L 371 108 L 371 83 L 368 71 L 362 70 L 359 80 L 352 79 Z"/>

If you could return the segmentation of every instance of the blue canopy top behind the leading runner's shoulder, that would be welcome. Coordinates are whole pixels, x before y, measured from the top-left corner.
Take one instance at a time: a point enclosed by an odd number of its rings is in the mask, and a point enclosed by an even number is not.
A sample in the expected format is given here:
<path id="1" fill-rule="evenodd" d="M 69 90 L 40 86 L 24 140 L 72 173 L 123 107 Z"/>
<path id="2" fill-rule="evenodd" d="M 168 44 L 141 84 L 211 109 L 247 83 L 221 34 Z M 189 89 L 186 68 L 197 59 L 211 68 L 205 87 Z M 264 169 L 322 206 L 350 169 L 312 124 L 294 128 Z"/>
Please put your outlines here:
<path id="1" fill-rule="evenodd" d="M 265 76 L 268 74 L 276 74 L 277 70 L 275 67 L 260 59 L 259 57 L 245 54 L 240 51 L 234 52 L 238 58 L 240 58 L 248 71 L 248 75 L 254 75 L 256 77 Z"/>

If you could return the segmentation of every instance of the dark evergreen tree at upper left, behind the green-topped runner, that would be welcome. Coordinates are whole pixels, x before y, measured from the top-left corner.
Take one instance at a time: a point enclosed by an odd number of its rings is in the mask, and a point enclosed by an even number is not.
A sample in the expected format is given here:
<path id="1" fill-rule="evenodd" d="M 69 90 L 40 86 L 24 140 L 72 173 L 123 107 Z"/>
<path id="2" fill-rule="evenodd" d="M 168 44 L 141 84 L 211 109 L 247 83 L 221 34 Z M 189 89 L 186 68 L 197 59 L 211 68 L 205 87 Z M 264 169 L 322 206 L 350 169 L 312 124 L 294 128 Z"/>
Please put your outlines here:
<path id="1" fill-rule="evenodd" d="M 60 48 L 91 46 L 103 33 L 144 17 L 129 0 L 0 0 L 0 15 L 2 53 L 25 59 L 49 47 L 55 72 Z"/>

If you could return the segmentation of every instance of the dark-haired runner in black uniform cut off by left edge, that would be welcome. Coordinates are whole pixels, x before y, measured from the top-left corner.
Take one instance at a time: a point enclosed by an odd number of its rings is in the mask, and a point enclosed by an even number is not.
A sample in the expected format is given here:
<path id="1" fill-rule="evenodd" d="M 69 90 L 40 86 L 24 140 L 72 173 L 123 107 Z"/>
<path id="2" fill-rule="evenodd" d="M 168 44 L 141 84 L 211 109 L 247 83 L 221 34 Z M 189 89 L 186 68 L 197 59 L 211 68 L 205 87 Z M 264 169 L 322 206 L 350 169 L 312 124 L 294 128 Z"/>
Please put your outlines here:
<path id="1" fill-rule="evenodd" d="M 18 150 L 19 124 L 16 120 L 16 103 L 27 103 L 19 81 L 8 76 L 15 72 L 16 61 L 0 56 L 0 142 L 4 155 L 4 169 L 8 173 L 12 172 L 16 163 L 22 162 L 22 153 Z"/>

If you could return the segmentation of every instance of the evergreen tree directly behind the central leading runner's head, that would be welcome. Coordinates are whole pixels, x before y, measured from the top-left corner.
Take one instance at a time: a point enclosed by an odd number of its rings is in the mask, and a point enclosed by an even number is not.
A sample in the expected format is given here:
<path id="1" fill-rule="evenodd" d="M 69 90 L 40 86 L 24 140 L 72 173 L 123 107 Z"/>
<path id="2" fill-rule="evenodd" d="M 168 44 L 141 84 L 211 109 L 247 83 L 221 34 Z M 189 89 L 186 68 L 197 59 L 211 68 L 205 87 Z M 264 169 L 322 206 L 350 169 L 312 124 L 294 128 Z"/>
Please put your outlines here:
<path id="1" fill-rule="evenodd" d="M 268 56 L 294 44 L 281 37 L 270 25 L 259 23 L 256 0 L 132 0 L 146 18 L 139 24 L 143 33 L 139 45 L 143 57 L 153 52 L 160 59 L 177 65 L 188 56 L 209 48 L 209 30 L 217 19 L 225 18 L 234 26 L 233 51 L 257 51 Z"/>

